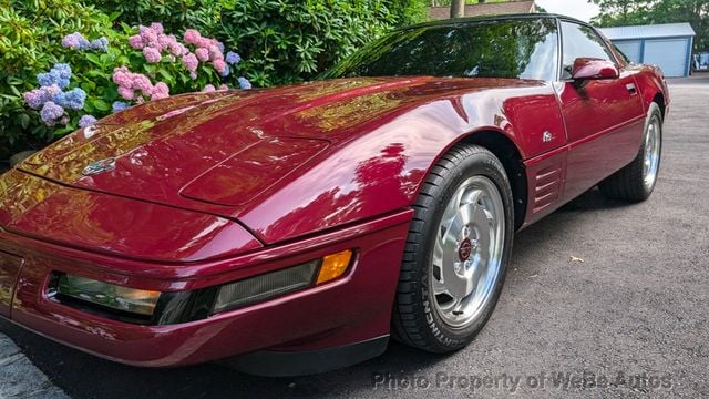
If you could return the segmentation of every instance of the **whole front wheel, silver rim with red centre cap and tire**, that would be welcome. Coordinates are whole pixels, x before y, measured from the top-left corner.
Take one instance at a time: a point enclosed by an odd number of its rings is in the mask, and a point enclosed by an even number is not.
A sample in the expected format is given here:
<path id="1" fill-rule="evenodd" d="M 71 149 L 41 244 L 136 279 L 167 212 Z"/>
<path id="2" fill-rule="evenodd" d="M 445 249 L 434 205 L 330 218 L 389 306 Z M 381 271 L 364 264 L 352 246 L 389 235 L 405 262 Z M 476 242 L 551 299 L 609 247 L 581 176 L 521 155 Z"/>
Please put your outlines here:
<path id="1" fill-rule="evenodd" d="M 459 146 L 414 205 L 393 314 L 394 337 L 446 352 L 467 345 L 502 289 L 513 238 L 512 192 L 487 150 Z"/>

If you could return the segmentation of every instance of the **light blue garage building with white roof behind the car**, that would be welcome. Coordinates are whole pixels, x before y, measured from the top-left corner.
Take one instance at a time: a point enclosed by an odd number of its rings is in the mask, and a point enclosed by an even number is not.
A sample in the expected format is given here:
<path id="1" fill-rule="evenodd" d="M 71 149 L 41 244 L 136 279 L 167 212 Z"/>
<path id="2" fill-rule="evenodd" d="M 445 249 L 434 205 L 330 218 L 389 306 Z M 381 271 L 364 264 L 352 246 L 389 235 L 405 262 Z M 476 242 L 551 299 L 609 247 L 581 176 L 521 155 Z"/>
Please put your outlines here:
<path id="1" fill-rule="evenodd" d="M 602 28 L 633 62 L 656 64 L 666 76 L 688 76 L 695 30 L 689 23 Z"/>

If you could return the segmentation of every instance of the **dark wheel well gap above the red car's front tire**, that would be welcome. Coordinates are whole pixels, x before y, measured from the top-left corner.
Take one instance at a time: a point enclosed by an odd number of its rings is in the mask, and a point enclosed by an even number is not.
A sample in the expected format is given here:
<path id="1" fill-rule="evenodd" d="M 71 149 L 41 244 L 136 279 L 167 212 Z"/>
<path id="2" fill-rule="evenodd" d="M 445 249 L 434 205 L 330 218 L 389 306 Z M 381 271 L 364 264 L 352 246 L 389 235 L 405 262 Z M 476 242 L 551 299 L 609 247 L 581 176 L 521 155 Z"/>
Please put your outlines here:
<path id="1" fill-rule="evenodd" d="M 514 203 L 514 227 L 524 223 L 527 209 L 527 176 L 517 146 L 502 133 L 477 132 L 461 141 L 463 144 L 480 145 L 492 152 L 507 173 Z"/>

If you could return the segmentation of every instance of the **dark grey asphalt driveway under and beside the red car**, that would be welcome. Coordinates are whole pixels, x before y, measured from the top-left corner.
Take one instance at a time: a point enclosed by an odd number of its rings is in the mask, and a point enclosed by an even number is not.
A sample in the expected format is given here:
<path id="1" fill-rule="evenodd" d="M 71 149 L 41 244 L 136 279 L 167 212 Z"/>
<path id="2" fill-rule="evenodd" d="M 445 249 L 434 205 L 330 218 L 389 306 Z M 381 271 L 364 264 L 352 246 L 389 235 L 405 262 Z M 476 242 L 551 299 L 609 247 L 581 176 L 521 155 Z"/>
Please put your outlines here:
<path id="1" fill-rule="evenodd" d="M 382 357 L 345 370 L 265 379 L 216 365 L 130 368 L 7 323 L 0 323 L 0 332 L 73 398 L 431 398 L 513 391 L 538 398 L 709 397 L 709 75 L 674 81 L 671 91 L 675 103 L 653 197 L 628 205 L 592 191 L 518 234 L 495 314 L 458 354 L 436 357 L 393 344 Z M 584 262 L 572 263 L 572 256 Z M 411 380 L 417 389 L 407 383 Z M 555 386 L 566 382 L 566 389 Z"/>

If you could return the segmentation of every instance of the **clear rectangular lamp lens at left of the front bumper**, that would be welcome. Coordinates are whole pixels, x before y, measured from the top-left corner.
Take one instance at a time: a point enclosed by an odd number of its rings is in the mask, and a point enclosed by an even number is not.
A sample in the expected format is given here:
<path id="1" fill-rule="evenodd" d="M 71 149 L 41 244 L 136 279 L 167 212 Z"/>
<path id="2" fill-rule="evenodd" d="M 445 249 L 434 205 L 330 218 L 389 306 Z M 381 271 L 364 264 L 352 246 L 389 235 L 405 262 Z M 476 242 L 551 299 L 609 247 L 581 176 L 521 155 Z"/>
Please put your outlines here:
<path id="1" fill-rule="evenodd" d="M 152 316 L 160 291 L 133 289 L 90 278 L 64 274 L 59 277 L 56 293 L 111 309 Z"/>

